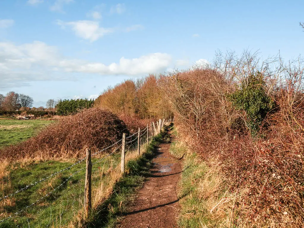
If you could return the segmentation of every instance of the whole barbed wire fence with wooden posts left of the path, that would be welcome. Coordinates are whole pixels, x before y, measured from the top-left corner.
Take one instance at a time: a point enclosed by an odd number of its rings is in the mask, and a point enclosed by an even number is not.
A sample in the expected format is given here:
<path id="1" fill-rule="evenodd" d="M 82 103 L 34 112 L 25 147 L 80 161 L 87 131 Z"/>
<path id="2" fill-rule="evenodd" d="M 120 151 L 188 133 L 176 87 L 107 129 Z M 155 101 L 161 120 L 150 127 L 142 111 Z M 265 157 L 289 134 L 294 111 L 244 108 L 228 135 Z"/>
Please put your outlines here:
<path id="1" fill-rule="evenodd" d="M 70 175 L 69 175 L 69 176 L 68 176 L 60 185 L 58 185 L 57 187 L 53 188 L 53 190 L 51 190 L 50 192 L 48 192 L 46 195 L 43 195 L 42 197 L 40 197 L 40 198 L 37 199 L 36 201 L 32 202 L 32 203 L 29 204 L 28 206 L 25 206 L 25 207 L 23 207 L 22 209 L 20 209 L 19 211 L 14 212 L 14 213 L 12 213 L 10 216 L 8 216 L 8 217 L 6 217 L 6 218 L 0 220 L 0 226 L 1 226 L 1 223 L 5 222 L 5 221 L 7 221 L 7 220 L 9 220 L 9 219 L 11 219 L 11 218 L 13 218 L 13 217 L 18 216 L 18 215 L 21 214 L 22 212 L 25 212 L 28 208 L 30 208 L 30 207 L 36 205 L 38 202 L 40 202 L 40 201 L 42 201 L 43 199 L 47 198 L 48 196 L 52 195 L 52 193 L 54 193 L 56 190 L 58 190 L 58 189 L 61 188 L 63 185 L 65 185 L 65 184 L 67 183 L 67 181 L 69 181 L 74 175 L 80 173 L 80 172 L 83 171 L 83 170 L 86 170 L 86 181 L 85 181 L 85 186 L 87 186 L 87 185 L 88 185 L 87 182 L 91 182 L 91 180 L 88 179 L 88 176 L 89 176 L 89 178 L 92 177 L 92 165 L 98 164 L 98 163 L 104 161 L 106 158 L 108 158 L 108 157 L 110 157 L 110 156 L 112 156 L 112 155 L 114 155 L 114 154 L 118 154 L 119 149 L 120 149 L 121 147 L 122 147 L 122 157 L 123 157 L 123 160 L 122 160 L 121 162 L 124 163 L 124 162 L 125 162 L 125 161 L 124 161 L 124 154 L 125 154 L 126 149 L 127 149 L 127 150 L 136 150 L 136 147 L 139 148 L 140 145 L 143 145 L 143 144 L 145 144 L 145 143 L 148 143 L 148 142 L 149 142 L 149 138 L 152 138 L 152 137 L 156 136 L 157 134 L 161 133 L 162 127 L 163 127 L 164 125 L 169 125 L 170 123 L 171 123 L 171 119 L 170 119 L 170 120 L 166 120 L 166 121 L 165 121 L 164 119 L 163 119 L 163 120 L 160 119 L 160 120 L 159 120 L 159 123 L 158 123 L 159 129 L 157 129 L 157 132 L 155 132 L 155 130 L 154 130 L 155 128 L 153 129 L 153 127 L 152 127 L 152 122 L 151 122 L 150 128 L 149 128 L 149 125 L 147 125 L 147 127 L 144 128 L 143 130 L 140 130 L 140 129 L 139 129 L 139 132 L 138 132 L 138 133 L 136 132 L 136 133 L 134 133 L 134 134 L 132 134 L 132 135 L 130 135 L 130 136 L 127 136 L 127 137 L 125 137 L 125 133 L 123 133 L 123 138 L 120 139 L 120 140 L 118 140 L 118 141 L 116 141 L 116 142 L 113 143 L 112 145 L 110 145 L 110 146 L 108 146 L 108 147 L 105 147 L 105 148 L 103 148 L 102 150 L 98 150 L 98 151 L 96 151 L 96 152 L 93 153 L 93 154 L 91 154 L 90 149 L 87 149 L 87 156 L 86 156 L 86 157 L 83 157 L 83 158 L 81 158 L 81 159 L 78 159 L 78 161 L 75 162 L 74 164 L 71 164 L 70 166 L 68 166 L 68 167 L 66 167 L 66 168 L 64 168 L 64 169 L 61 169 L 61 170 L 59 170 L 59 171 L 57 171 L 57 172 L 55 172 L 55 173 L 53 173 L 53 174 L 51 174 L 51 175 L 49 175 L 49 176 L 47 176 L 47 177 L 45 177 L 45 178 L 42 178 L 42 179 L 40 179 L 39 181 L 32 182 L 31 184 L 28 184 L 28 185 L 26 185 L 25 187 L 20 188 L 20 189 L 18 189 L 17 191 L 10 193 L 9 195 L 5 195 L 5 196 L 1 197 L 1 198 L 0 198 L 0 202 L 3 201 L 3 200 L 5 200 L 5 199 L 8 199 L 8 198 L 10 198 L 10 197 L 12 197 L 12 196 L 14 196 L 14 195 L 16 195 L 16 194 L 19 194 L 19 193 L 21 193 L 21 192 L 23 192 L 23 191 L 26 191 L 26 190 L 28 190 L 29 188 L 32 188 L 33 186 L 38 185 L 38 184 L 42 183 L 43 181 L 46 181 L 46 180 L 49 179 L 49 178 L 52 178 L 52 177 L 54 177 L 54 176 L 56 176 L 56 175 L 58 175 L 58 174 L 60 174 L 60 173 L 63 173 L 64 171 L 71 170 L 71 168 L 73 168 L 74 166 L 76 166 L 76 165 L 78 165 L 78 164 L 81 164 L 83 161 L 86 161 L 86 167 L 80 168 L 80 169 L 76 170 L 74 173 L 70 174 Z M 153 122 L 153 125 L 154 125 L 154 122 Z M 135 136 L 136 134 L 137 134 L 137 136 Z M 135 136 L 135 137 L 134 137 L 134 136 Z M 138 137 L 139 137 L 139 140 L 138 140 Z M 128 142 L 126 142 L 126 140 L 127 140 Z M 138 141 L 139 141 L 140 143 L 138 143 Z M 121 143 L 121 142 L 122 142 L 122 143 Z M 108 153 L 107 155 L 105 155 L 105 156 L 102 157 L 102 158 L 99 158 L 98 160 L 94 161 L 93 163 L 91 162 L 91 157 L 92 157 L 92 156 L 95 156 L 95 155 L 100 154 L 100 153 L 105 152 L 105 151 L 109 151 L 109 149 L 111 149 L 112 147 L 116 146 L 117 144 L 119 144 L 119 145 L 118 145 L 117 147 L 115 147 L 114 149 L 112 149 L 112 152 Z M 90 154 L 89 157 L 88 157 L 88 151 L 89 151 L 89 154 Z M 98 167 L 94 167 L 93 171 L 95 171 L 97 168 L 98 168 Z M 124 172 L 124 170 L 122 170 L 122 172 Z M 88 191 L 88 189 L 86 189 L 86 187 L 85 187 L 85 192 L 84 192 L 84 194 L 85 194 L 85 199 L 88 198 L 88 199 L 90 199 L 90 201 L 91 201 L 91 199 L 92 199 L 92 198 L 91 198 L 92 189 L 90 188 L 89 191 Z M 60 197 L 60 196 L 59 196 L 59 197 Z M 58 197 L 58 198 L 59 198 L 59 197 Z M 88 204 L 89 206 L 86 206 L 86 204 Z M 91 210 L 91 207 L 92 207 L 92 206 L 91 206 L 91 202 L 86 202 L 86 200 L 85 200 L 85 210 L 87 210 L 87 211 L 85 211 L 85 217 L 88 216 L 88 213 L 89 213 L 89 211 Z M 41 209 L 41 210 L 42 210 L 42 209 Z"/>

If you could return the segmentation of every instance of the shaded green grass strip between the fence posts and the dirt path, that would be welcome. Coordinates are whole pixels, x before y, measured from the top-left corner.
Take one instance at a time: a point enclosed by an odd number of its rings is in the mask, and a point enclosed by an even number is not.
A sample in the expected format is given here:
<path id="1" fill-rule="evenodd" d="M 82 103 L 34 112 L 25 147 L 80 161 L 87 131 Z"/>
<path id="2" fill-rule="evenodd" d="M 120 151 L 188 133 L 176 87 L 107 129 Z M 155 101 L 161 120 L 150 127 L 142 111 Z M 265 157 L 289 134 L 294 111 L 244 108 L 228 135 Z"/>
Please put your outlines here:
<path id="1" fill-rule="evenodd" d="M 127 205 L 136 198 L 136 192 L 142 187 L 150 173 L 154 147 L 161 135 L 157 135 L 145 145 L 140 157 L 130 159 L 126 164 L 126 173 L 116 182 L 112 194 L 92 213 L 89 223 L 85 227 L 115 227 L 123 213 L 127 212 Z"/>

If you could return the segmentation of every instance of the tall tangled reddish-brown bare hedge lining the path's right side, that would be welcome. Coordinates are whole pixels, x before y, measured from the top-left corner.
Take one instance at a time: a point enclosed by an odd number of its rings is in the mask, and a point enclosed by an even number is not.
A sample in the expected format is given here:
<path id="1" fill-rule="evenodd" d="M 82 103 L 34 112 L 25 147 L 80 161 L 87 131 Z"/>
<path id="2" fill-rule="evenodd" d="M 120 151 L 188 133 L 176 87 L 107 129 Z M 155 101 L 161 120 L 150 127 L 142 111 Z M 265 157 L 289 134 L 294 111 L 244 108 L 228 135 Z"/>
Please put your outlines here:
<path id="1" fill-rule="evenodd" d="M 222 177 L 211 195 L 204 185 L 210 172 L 196 179 L 201 200 L 218 197 L 207 204 L 218 226 L 304 226 L 303 69 L 300 59 L 284 65 L 278 58 L 261 63 L 256 54 L 228 53 L 164 78 L 180 138 Z M 261 83 L 250 84 L 252 75 Z M 231 102 L 241 88 L 258 93 L 243 94 L 247 103 Z M 271 109 L 253 118 L 267 110 L 257 94 Z"/>

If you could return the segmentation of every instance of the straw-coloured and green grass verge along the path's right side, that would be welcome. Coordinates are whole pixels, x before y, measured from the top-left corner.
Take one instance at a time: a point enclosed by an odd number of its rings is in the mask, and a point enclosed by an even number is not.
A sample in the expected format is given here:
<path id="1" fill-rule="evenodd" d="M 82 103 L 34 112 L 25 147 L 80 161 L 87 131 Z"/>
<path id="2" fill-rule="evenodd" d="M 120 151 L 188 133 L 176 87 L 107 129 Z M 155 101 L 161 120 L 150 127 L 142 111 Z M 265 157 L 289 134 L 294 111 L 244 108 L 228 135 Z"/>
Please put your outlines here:
<path id="1" fill-rule="evenodd" d="M 175 133 L 177 134 L 176 130 Z M 196 153 L 188 151 L 184 143 L 171 143 L 170 153 L 184 156 L 183 172 L 179 183 L 181 210 L 178 226 L 230 227 L 229 205 L 225 201 L 223 181 L 216 163 L 212 166 L 202 161 Z"/>

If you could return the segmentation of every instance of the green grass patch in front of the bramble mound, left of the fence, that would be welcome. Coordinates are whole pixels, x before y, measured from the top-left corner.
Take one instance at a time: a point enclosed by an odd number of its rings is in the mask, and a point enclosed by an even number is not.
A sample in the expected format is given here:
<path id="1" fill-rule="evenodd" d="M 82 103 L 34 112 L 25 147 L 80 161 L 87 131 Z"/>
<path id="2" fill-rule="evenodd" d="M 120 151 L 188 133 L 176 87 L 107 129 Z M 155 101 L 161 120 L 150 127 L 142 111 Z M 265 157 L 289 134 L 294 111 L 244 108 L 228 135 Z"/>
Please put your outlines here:
<path id="1" fill-rule="evenodd" d="M 92 162 L 95 160 L 96 159 L 93 159 Z M 119 161 L 120 156 L 119 154 L 116 154 L 99 164 L 95 164 L 95 170 L 93 167 L 92 172 L 92 186 L 97 186 L 100 183 L 101 175 L 98 167 L 103 167 L 103 169 L 106 170 L 111 163 L 113 164 L 114 162 L 118 164 Z M 2 187 L 3 189 L 0 191 L 0 198 L 25 187 L 29 183 L 39 181 L 41 178 L 46 177 L 55 171 L 64 169 L 71 164 L 73 163 L 59 161 L 31 163 L 28 165 L 16 164 L 14 167 L 10 168 L 9 174 L 0 180 L 4 183 L 4 185 L 2 185 L 4 187 Z M 83 208 L 85 169 L 75 174 L 68 181 L 66 180 L 71 174 L 83 167 L 85 167 L 84 162 L 10 197 L 9 200 L 12 200 L 12 204 L 10 206 L 4 206 L 2 209 L 0 206 L 0 211 L 4 210 L 10 214 L 15 213 L 24 207 L 31 205 L 33 202 L 36 202 L 36 200 L 42 198 L 47 193 L 54 190 L 54 188 L 65 182 L 51 195 L 29 207 L 14 219 L 9 219 L 0 223 L 0 227 L 59 227 L 60 225 L 68 224 L 73 221 L 75 214 Z M 107 178 L 106 175 L 103 175 L 102 181 L 106 182 Z M 3 217 L 0 216 L 0 221 L 8 215 L 3 215 Z"/>

